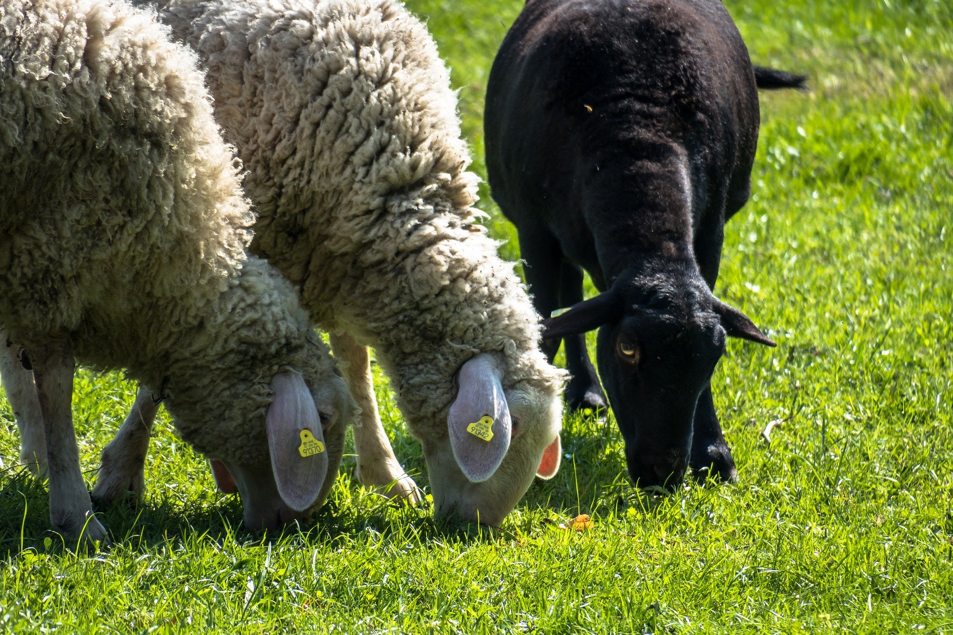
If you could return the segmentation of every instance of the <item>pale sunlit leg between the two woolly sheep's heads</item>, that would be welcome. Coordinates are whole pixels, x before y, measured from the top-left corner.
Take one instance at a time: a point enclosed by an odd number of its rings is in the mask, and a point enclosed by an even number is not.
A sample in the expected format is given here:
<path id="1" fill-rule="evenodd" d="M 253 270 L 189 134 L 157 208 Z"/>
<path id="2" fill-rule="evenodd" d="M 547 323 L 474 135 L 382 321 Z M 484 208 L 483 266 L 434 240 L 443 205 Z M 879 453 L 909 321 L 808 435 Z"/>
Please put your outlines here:
<path id="1" fill-rule="evenodd" d="M 368 348 L 357 344 L 346 333 L 332 333 L 331 349 L 361 409 L 354 427 L 357 476 L 360 482 L 376 487 L 388 498 L 403 499 L 412 504 L 421 502 L 423 494 L 417 489 L 414 479 L 397 463 L 394 448 L 380 422 Z"/>

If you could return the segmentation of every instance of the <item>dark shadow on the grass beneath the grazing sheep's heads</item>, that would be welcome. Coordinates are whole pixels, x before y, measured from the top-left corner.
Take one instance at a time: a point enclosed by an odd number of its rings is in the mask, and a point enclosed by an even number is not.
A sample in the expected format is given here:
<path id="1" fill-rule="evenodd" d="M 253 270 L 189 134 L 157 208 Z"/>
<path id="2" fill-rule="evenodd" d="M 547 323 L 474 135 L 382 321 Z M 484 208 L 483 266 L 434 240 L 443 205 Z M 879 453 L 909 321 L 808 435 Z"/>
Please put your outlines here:
<path id="1" fill-rule="evenodd" d="M 413 539 L 426 546 L 516 539 L 537 529 L 540 514 L 543 522 L 561 522 L 580 513 L 615 516 L 630 508 L 651 514 L 671 498 L 632 486 L 618 428 L 611 420 L 567 415 L 562 448 L 557 476 L 550 481 L 537 479 L 501 528 L 435 519 L 429 503 L 411 507 L 388 501 L 356 486 L 351 478 L 353 461 L 348 460 L 328 503 L 314 514 L 309 526 L 256 534 L 242 525 L 242 508 L 236 496 L 212 492 L 198 498 L 176 496 L 174 488 L 156 482 L 150 484 L 146 500 L 138 506 L 119 503 L 98 516 L 109 528 L 114 545 L 136 551 L 170 542 L 184 543 L 195 537 L 218 544 L 291 538 L 316 545 L 355 541 L 374 534 L 398 542 Z M 422 456 L 416 453 L 407 457 L 404 465 L 426 492 L 429 483 Z M 25 549 L 51 551 L 65 547 L 70 545 L 50 529 L 46 486 L 24 468 L 0 471 L 0 559 Z"/>

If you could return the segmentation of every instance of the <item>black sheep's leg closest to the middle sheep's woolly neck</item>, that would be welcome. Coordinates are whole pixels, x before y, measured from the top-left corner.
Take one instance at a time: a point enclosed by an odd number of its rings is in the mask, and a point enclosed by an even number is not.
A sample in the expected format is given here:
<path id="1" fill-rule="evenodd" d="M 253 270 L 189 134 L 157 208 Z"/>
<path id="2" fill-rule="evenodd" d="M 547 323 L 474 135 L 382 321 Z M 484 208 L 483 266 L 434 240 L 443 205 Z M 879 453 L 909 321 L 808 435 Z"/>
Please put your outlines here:
<path id="1" fill-rule="evenodd" d="M 526 284 L 533 294 L 533 307 L 545 320 L 559 308 L 559 275 L 562 250 L 556 238 L 546 230 L 519 229 L 519 251 Z M 542 351 L 550 364 L 559 351 L 561 339 L 543 340 Z"/>

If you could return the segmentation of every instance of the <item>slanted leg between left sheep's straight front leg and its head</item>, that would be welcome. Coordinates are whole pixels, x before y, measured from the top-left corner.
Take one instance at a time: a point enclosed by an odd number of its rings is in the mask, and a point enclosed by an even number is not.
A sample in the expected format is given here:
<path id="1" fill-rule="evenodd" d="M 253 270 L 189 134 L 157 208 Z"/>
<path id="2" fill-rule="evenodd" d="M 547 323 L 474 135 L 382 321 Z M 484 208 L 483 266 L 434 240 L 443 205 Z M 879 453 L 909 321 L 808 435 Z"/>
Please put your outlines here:
<path id="1" fill-rule="evenodd" d="M 119 498 L 130 498 L 132 503 L 142 500 L 146 492 L 146 453 L 160 403 L 151 390 L 139 387 L 132 411 L 103 450 L 99 478 L 92 489 L 97 506 L 110 506 Z"/>

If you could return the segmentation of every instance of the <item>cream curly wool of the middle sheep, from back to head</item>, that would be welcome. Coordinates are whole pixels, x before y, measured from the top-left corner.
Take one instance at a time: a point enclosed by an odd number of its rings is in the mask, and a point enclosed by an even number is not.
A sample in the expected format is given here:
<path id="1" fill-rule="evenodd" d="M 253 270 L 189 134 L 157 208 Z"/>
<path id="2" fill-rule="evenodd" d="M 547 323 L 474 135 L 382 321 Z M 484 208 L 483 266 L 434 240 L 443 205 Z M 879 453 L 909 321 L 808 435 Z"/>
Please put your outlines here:
<path id="1" fill-rule="evenodd" d="M 375 347 L 417 436 L 446 436 L 456 370 L 478 352 L 504 353 L 504 387 L 558 394 L 525 288 L 474 222 L 447 69 L 403 5 L 158 4 L 248 169 L 253 249 L 318 324 Z"/>

